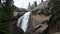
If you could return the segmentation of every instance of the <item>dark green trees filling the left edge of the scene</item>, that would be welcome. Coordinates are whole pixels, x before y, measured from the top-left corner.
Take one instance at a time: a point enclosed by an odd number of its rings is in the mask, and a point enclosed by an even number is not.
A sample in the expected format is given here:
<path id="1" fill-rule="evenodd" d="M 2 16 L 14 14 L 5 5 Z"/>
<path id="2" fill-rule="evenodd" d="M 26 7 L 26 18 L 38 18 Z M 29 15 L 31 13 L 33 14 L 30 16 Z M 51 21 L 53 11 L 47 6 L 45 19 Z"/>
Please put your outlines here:
<path id="1" fill-rule="evenodd" d="M 3 1 L 3 3 L 1 3 Z M 0 31 L 10 34 L 10 23 L 13 18 L 12 10 L 13 0 L 0 0 Z"/>

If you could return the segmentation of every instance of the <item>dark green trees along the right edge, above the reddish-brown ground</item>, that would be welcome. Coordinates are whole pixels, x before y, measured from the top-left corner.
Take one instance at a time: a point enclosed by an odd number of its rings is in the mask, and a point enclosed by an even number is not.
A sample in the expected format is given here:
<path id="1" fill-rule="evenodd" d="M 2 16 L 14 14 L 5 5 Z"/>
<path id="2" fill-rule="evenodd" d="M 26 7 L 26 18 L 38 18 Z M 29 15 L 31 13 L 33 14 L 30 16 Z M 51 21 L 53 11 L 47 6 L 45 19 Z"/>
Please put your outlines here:
<path id="1" fill-rule="evenodd" d="M 55 23 L 55 25 L 57 23 L 60 23 L 60 1 L 59 0 L 51 0 L 51 2 L 53 3 L 53 9 L 52 9 L 52 19 L 51 19 L 51 23 Z"/>

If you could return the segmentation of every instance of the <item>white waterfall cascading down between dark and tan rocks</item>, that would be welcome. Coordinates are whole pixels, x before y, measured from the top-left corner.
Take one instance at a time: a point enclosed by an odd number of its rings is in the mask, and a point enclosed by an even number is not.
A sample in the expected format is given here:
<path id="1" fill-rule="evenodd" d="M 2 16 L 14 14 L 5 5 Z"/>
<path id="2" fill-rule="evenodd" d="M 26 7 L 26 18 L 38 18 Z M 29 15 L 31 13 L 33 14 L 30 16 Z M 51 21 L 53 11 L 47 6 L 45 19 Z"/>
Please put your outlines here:
<path id="1" fill-rule="evenodd" d="M 27 26 L 28 26 L 28 20 L 29 20 L 30 12 L 26 12 L 23 16 L 21 16 L 17 21 L 17 26 L 20 27 L 26 32 Z"/>

